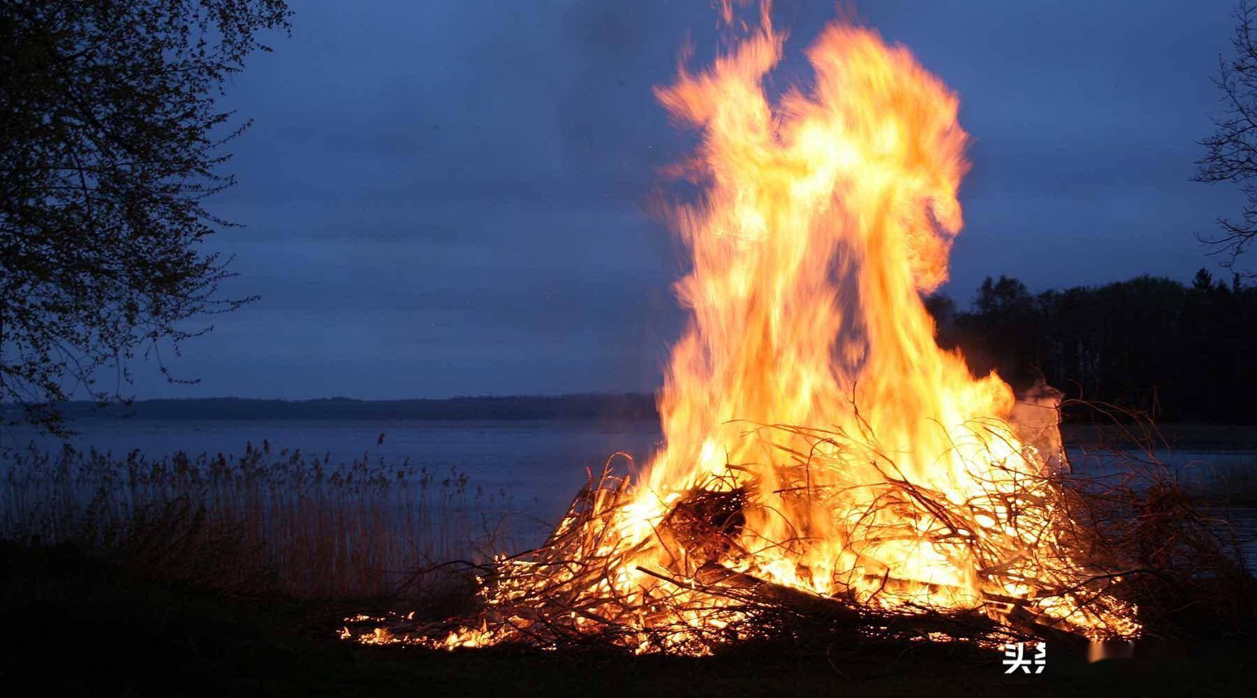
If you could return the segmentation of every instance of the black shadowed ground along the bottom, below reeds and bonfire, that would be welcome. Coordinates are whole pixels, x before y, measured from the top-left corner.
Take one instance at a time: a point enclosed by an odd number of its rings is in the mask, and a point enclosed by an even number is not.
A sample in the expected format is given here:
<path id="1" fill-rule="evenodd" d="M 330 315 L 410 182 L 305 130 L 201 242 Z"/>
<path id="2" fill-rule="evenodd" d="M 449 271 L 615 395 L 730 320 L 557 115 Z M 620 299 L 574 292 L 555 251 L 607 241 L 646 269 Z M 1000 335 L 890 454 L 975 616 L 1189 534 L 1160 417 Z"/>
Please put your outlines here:
<path id="1" fill-rule="evenodd" d="M 363 604 L 240 598 L 142 579 L 67 549 L 0 542 L 4 695 L 1238 695 L 1257 640 L 1143 643 L 1087 664 L 1052 649 L 1040 675 L 947 645 L 755 647 L 708 659 L 436 653 L 342 643 Z"/>

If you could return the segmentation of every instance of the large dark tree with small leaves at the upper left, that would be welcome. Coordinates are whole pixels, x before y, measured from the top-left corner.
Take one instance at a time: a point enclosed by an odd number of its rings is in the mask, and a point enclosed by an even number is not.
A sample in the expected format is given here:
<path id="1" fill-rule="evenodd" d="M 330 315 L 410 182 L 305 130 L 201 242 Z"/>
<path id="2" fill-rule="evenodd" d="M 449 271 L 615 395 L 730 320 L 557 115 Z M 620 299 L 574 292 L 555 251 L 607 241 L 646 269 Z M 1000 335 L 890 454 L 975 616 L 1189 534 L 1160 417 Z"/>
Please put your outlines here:
<path id="1" fill-rule="evenodd" d="M 216 105 L 284 0 L 0 0 L 0 403 L 67 433 L 58 403 L 126 402 L 128 360 L 210 326 L 233 223 L 224 146 L 248 122 Z M 101 380 L 109 375 L 107 380 Z M 103 383 L 103 385 L 102 385 Z M 20 409 L 14 409 L 20 407 Z"/>

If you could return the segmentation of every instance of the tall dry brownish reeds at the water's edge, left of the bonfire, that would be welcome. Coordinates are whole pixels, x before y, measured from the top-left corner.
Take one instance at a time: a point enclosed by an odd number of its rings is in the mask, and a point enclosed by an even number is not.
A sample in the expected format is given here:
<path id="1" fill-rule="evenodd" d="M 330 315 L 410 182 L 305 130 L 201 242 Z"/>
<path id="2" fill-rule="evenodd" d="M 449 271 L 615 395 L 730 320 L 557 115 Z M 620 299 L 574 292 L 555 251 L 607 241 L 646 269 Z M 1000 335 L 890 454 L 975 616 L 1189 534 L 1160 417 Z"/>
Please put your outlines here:
<path id="1" fill-rule="evenodd" d="M 414 575 L 508 545 L 505 492 L 456 468 L 251 443 L 239 457 L 148 458 L 0 449 L 0 539 L 68 545 L 165 579 L 300 599 L 409 596 L 450 584 Z"/>

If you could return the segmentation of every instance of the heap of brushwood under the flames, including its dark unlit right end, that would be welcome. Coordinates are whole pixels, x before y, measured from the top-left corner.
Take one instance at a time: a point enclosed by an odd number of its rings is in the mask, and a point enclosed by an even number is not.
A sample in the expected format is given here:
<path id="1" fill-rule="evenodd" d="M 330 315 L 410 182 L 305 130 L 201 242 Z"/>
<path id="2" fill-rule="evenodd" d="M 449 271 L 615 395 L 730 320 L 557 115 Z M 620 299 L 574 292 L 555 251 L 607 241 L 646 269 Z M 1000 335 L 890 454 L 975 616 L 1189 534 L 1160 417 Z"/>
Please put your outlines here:
<path id="1" fill-rule="evenodd" d="M 771 429 L 835 446 L 851 441 L 841 432 Z M 774 495 L 808 497 L 822 507 L 835 496 L 827 490 L 832 486 L 813 482 L 815 453 L 797 453 L 794 462 L 777 466 L 778 482 L 798 486 Z M 515 643 L 552 650 L 708 654 L 735 643 L 781 639 L 959 640 L 992 647 L 1035 638 L 1077 643 L 1084 640 L 1077 619 L 1091 623 L 1087 634 L 1092 638 L 1129 638 L 1140 624 L 1148 634 L 1175 634 L 1180 628 L 1173 619 L 1183 599 L 1204 594 L 1223 606 L 1243 604 L 1241 586 L 1252 577 L 1236 555 L 1234 539 L 1182 496 L 1173 473 L 1148 458 L 1151 449 L 1144 456 L 1145 468 L 1046 472 L 1014 495 L 992 488 L 963 503 L 909 482 L 892 466 L 879 467 L 879 482 L 860 485 L 876 490 L 870 512 L 890 507 L 929 518 L 921 536 L 931 545 L 964 549 L 983 562 L 979 572 L 998 583 L 984 588 L 979 604 L 964 609 L 903 598 L 884 603 L 895 581 L 889 572 L 871 594 L 838 585 L 838 593 L 820 595 L 757 576 L 753 567 L 733 569 L 725 561 L 754 556 L 744 549 L 754 540 L 753 532 L 748 536 L 747 512 L 760 498 L 754 480 L 735 478 L 733 472 L 686 492 L 654 525 L 652 535 L 621 540 L 617 526 L 631 518 L 623 510 L 634 506 L 635 497 L 628 480 L 613 475 L 608 461 L 541 547 L 473 566 L 483 599 L 478 611 L 436 621 L 416 620 L 415 614 L 363 615 L 348 619 L 342 636 L 445 648 Z M 1033 547 L 1013 550 L 999 535 L 973 535 L 975 517 L 991 515 L 994 500 L 1004 505 L 1002 511 L 1033 505 L 1040 505 L 1037 511 L 1051 511 L 1047 518 L 1022 517 L 1051 530 L 1051 545 L 1040 554 Z M 1016 527 L 1018 515 L 1007 517 Z M 871 540 L 903 534 L 876 526 L 870 522 L 861 535 Z M 767 542 L 791 549 L 806 545 L 804 539 L 801 534 L 796 540 Z M 640 564 L 647 546 L 666 552 L 647 559 L 669 561 Z M 623 584 L 626 574 L 650 584 Z M 1028 595 L 991 590 L 1019 575 L 1045 579 L 1036 579 L 1040 588 Z M 1251 595 L 1247 599 L 1251 604 Z M 1045 613 L 1053 604 L 1057 613 Z M 1061 605 L 1067 606 L 1065 611 Z M 1134 615 L 1136 608 L 1139 623 L 1124 616 Z M 1106 628 L 1111 618 L 1119 623 Z"/>

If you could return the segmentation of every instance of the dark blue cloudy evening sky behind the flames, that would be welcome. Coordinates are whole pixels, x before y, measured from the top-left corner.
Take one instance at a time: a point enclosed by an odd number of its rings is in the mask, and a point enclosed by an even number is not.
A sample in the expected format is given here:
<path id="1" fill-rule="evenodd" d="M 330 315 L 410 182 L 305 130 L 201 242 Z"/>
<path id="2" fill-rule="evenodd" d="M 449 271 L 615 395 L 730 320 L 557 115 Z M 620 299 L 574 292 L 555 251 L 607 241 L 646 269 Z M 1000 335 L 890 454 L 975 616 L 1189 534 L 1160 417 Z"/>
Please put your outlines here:
<path id="1" fill-rule="evenodd" d="M 779 0 L 789 58 L 835 16 Z M 944 289 L 985 275 L 1032 290 L 1214 266 L 1194 239 L 1241 198 L 1189 182 L 1229 0 L 867 0 L 859 16 L 959 92 L 973 134 L 967 226 Z M 651 87 L 704 0 L 299 3 L 290 39 L 253 56 L 226 103 L 245 223 L 233 294 L 261 300 L 171 360 L 140 397 L 358 398 L 649 390 L 680 328 L 681 262 L 646 206 L 693 134 Z"/>

